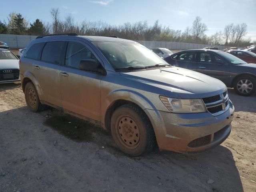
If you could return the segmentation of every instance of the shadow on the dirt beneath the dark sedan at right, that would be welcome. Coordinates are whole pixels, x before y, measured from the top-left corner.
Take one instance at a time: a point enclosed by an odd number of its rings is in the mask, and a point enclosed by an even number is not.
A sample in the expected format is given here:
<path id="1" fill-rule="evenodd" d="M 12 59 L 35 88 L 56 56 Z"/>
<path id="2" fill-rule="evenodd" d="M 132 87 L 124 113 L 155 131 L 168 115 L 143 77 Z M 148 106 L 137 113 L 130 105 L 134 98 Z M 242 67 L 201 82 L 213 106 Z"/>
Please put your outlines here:
<path id="1" fill-rule="evenodd" d="M 228 88 L 229 98 L 235 106 L 235 111 L 256 112 L 256 93 L 251 96 L 240 96 L 234 89 Z"/>

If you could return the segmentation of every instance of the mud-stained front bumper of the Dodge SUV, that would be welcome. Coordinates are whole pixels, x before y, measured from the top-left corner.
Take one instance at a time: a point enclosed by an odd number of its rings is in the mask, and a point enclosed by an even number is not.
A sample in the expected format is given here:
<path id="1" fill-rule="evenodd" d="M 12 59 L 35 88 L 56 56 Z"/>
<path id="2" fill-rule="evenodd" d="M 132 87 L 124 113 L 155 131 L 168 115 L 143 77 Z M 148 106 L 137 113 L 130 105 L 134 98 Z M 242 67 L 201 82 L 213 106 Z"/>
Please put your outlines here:
<path id="1" fill-rule="evenodd" d="M 209 112 L 174 114 L 145 110 L 156 134 L 160 150 L 195 153 L 221 144 L 230 134 L 234 106 L 218 116 Z"/>

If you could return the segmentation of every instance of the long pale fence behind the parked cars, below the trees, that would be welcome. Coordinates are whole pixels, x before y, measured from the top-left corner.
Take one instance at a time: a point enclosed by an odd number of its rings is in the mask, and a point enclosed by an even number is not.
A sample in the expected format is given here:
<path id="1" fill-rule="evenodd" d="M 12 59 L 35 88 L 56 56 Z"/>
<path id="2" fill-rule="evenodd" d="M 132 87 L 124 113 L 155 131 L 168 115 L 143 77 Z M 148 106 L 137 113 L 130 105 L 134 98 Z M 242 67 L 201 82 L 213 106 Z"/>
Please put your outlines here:
<path id="1" fill-rule="evenodd" d="M 6 42 L 10 48 L 25 48 L 30 41 L 34 40 L 37 36 L 32 35 L 9 35 L 0 34 L 0 41 Z M 148 47 L 162 47 L 171 50 L 186 50 L 186 49 L 200 49 L 204 47 L 211 47 L 214 45 L 203 45 L 195 43 L 182 43 L 182 42 L 166 42 L 166 41 L 137 41 L 140 44 Z M 219 50 L 227 48 L 226 46 L 216 46 Z"/>

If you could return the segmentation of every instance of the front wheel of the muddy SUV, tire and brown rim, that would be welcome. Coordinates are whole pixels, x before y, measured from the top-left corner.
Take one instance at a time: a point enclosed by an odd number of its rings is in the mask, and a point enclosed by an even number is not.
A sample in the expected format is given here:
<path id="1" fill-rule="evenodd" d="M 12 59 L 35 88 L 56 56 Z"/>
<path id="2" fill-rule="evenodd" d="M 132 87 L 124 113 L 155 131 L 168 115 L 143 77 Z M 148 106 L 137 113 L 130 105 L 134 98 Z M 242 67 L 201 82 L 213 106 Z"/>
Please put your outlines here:
<path id="1" fill-rule="evenodd" d="M 130 156 L 150 152 L 156 144 L 150 120 L 138 106 L 118 107 L 112 114 L 110 128 L 118 148 Z"/>

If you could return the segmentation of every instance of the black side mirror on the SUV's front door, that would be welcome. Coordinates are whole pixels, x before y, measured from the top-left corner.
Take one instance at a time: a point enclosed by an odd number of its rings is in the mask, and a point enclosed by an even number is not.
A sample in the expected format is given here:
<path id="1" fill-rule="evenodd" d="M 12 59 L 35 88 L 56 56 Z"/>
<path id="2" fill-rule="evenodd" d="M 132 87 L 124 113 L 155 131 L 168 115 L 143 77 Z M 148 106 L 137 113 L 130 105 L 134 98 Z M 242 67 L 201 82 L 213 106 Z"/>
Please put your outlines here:
<path id="1" fill-rule="evenodd" d="M 100 74 L 106 74 L 102 66 L 93 59 L 84 59 L 80 61 L 79 69 L 84 71 L 91 71 Z"/>

